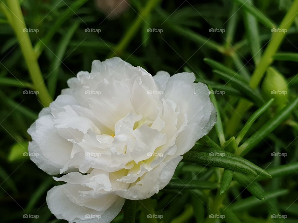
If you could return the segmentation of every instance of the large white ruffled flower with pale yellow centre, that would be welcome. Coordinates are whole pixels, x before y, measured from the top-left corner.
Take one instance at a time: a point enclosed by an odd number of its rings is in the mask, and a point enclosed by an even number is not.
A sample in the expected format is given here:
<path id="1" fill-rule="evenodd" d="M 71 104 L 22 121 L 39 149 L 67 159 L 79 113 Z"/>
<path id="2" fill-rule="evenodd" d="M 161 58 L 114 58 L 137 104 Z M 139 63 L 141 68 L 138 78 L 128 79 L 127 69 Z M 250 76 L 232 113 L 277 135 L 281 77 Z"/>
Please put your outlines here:
<path id="1" fill-rule="evenodd" d="M 68 81 L 28 130 L 31 160 L 56 181 L 47 204 L 58 219 L 110 222 L 125 199 L 165 187 L 182 155 L 216 121 L 193 73 L 152 77 L 120 58 L 93 61 Z"/>

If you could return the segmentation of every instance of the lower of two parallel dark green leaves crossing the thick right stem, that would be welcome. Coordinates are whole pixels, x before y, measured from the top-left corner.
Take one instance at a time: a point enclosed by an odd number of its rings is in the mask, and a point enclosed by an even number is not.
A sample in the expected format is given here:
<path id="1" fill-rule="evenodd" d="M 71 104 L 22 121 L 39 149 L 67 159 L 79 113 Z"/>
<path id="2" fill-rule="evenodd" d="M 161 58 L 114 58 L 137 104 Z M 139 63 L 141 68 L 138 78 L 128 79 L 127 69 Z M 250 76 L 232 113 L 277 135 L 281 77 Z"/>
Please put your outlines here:
<path id="1" fill-rule="evenodd" d="M 252 89 L 247 83 L 245 83 L 244 79 L 241 76 L 236 74 L 234 76 L 231 76 L 218 70 L 214 70 L 213 72 L 227 83 L 231 83 L 234 88 L 248 96 L 251 101 L 254 101 L 257 105 L 264 104 L 264 99 L 262 98 L 260 92 L 256 89 Z"/>

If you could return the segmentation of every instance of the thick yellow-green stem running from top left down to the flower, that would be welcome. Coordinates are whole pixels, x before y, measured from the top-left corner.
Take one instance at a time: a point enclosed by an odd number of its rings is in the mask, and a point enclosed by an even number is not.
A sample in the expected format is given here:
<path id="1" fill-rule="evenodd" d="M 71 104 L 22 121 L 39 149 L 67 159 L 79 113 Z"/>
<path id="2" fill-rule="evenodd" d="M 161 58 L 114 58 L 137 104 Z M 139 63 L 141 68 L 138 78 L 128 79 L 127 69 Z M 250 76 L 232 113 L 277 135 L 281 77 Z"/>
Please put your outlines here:
<path id="1" fill-rule="evenodd" d="M 34 53 L 30 41 L 29 33 L 23 32 L 23 29 L 25 29 L 26 26 L 20 3 L 18 0 L 10 0 L 7 1 L 7 5 L 12 12 L 12 22 L 14 24 L 14 30 L 20 42 L 20 47 L 28 66 L 29 74 L 33 81 L 34 88 L 36 91 L 38 91 L 38 97 L 43 103 L 43 106 L 47 107 L 52 102 L 52 98 L 47 91 L 46 85 L 43 81 L 43 76 L 41 74 L 37 57 Z"/>

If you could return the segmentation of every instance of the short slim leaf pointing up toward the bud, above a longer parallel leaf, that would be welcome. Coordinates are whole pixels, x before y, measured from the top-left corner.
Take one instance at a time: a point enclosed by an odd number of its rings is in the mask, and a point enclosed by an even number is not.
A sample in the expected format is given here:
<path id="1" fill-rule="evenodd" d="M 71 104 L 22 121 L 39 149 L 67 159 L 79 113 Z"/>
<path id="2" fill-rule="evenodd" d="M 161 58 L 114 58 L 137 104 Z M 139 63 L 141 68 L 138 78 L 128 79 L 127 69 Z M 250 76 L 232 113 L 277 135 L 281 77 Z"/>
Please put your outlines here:
<path id="1" fill-rule="evenodd" d="M 260 107 L 257 111 L 255 111 L 250 118 L 247 120 L 247 122 L 245 123 L 244 127 L 242 128 L 242 130 L 240 131 L 240 133 L 238 134 L 237 138 L 236 138 L 236 143 L 237 145 L 239 145 L 239 143 L 241 142 L 241 140 L 243 139 L 243 137 L 245 136 L 245 134 L 247 133 L 247 131 L 251 128 L 251 125 L 255 122 L 255 120 L 257 118 L 260 117 L 260 115 L 262 115 L 272 104 L 273 102 L 273 98 L 270 99 L 268 102 L 266 102 L 262 107 Z"/>

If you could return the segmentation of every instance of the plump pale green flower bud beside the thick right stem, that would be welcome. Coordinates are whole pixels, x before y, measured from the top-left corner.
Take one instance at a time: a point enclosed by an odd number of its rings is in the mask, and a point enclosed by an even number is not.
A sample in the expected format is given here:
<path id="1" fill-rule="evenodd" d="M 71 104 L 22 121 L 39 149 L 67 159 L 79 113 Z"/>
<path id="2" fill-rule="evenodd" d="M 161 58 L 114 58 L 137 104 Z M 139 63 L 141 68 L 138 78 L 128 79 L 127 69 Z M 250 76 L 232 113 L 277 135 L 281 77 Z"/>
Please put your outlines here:
<path id="1" fill-rule="evenodd" d="M 283 107 L 287 103 L 287 81 L 275 68 L 269 67 L 267 69 L 261 90 L 264 99 L 274 98 L 273 103 L 278 107 Z"/>

